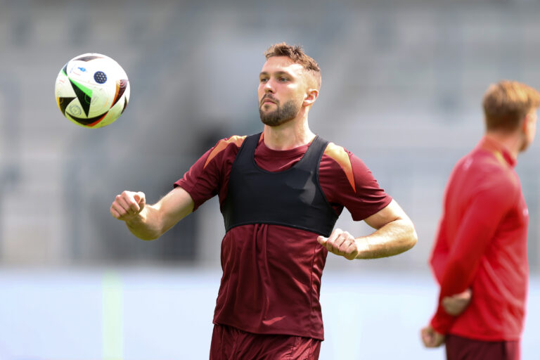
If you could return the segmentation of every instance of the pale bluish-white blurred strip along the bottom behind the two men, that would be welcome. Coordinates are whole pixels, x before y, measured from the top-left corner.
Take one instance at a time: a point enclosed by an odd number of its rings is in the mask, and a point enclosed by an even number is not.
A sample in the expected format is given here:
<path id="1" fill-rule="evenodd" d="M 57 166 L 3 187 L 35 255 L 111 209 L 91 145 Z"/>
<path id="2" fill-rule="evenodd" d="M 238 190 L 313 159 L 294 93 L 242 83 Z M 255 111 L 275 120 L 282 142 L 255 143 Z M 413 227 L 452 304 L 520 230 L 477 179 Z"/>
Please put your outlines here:
<path id="1" fill-rule="evenodd" d="M 0 360 L 208 359 L 220 276 L 195 268 L 2 269 Z M 418 335 L 436 290 L 429 274 L 327 269 L 320 359 L 444 359 Z M 522 359 L 536 359 L 539 334 L 540 278 L 532 276 Z"/>

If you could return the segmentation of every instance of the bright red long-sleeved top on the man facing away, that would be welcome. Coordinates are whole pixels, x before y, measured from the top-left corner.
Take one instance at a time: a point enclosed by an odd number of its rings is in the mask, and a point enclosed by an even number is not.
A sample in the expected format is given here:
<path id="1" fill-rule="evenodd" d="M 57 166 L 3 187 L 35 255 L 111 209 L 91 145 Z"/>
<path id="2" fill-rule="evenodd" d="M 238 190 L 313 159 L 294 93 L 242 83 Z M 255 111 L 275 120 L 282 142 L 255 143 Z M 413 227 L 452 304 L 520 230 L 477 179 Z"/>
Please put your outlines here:
<path id="1" fill-rule="evenodd" d="M 527 205 L 515 159 L 485 136 L 454 167 L 430 264 L 440 285 L 431 325 L 439 333 L 484 341 L 519 340 L 525 316 Z M 473 290 L 458 316 L 442 299 Z"/>

